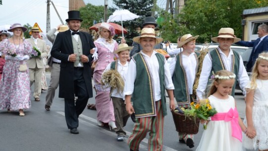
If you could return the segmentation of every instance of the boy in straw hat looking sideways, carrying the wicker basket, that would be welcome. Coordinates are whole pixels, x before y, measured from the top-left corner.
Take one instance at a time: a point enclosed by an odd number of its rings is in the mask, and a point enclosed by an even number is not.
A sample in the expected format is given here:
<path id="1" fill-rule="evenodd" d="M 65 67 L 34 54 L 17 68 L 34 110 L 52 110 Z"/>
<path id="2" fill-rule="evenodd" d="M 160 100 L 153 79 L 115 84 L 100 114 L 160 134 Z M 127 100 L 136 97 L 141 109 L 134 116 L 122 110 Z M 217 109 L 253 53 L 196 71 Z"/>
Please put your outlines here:
<path id="1" fill-rule="evenodd" d="M 174 94 L 179 108 L 190 107 L 190 103 L 193 102 L 193 99 L 196 99 L 192 97 L 192 94 L 199 67 L 198 56 L 200 53 L 195 52 L 198 37 L 193 37 L 191 34 L 182 36 L 178 47 L 183 47 L 183 52 L 176 55 L 169 65 L 170 74 L 173 75 Z M 179 134 L 179 142 L 186 143 L 189 148 L 195 147 L 193 139 L 193 135 Z"/>

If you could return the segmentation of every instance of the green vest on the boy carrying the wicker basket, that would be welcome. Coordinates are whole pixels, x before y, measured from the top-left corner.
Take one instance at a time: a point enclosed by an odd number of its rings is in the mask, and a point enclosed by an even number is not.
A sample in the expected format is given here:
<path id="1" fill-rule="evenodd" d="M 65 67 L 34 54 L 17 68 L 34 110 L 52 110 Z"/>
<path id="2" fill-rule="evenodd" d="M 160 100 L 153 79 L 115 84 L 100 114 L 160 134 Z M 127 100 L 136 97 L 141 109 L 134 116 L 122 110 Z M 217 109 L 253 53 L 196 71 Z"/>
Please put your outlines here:
<path id="1" fill-rule="evenodd" d="M 188 86 L 188 80 L 187 80 L 187 74 L 185 72 L 185 69 L 183 67 L 183 60 L 182 60 L 182 53 L 179 53 L 176 56 L 176 65 L 175 65 L 175 71 L 173 74 L 173 84 L 174 84 L 174 94 L 177 101 L 177 104 L 189 104 L 191 103 L 191 96 L 189 94 L 189 86 Z M 199 58 L 198 56 L 200 53 L 195 52 L 195 57 L 197 61 L 197 66 L 195 68 L 196 74 L 199 69 Z M 193 67 L 194 70 L 194 67 Z"/>

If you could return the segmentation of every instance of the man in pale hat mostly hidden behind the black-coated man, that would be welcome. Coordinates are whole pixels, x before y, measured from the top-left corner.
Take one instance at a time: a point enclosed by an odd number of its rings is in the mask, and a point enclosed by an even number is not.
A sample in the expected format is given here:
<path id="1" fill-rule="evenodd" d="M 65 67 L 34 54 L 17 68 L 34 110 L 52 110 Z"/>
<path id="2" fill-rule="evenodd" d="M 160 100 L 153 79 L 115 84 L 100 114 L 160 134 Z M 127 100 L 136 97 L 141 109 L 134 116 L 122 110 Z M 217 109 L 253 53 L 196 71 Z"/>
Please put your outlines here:
<path id="1" fill-rule="evenodd" d="M 47 33 L 48 40 L 52 43 L 54 43 L 54 40 L 56 38 L 56 32 L 64 32 L 67 31 L 69 27 L 67 25 L 58 25 L 56 28 L 51 29 Z M 51 68 L 51 74 L 50 74 L 50 84 L 48 87 L 48 92 L 46 95 L 46 104 L 45 109 L 47 111 L 50 111 L 50 106 L 52 105 L 53 98 L 55 96 L 55 91 L 59 86 L 59 80 L 60 80 L 60 65 L 61 61 L 51 57 L 51 54 L 48 55 L 48 65 Z"/>

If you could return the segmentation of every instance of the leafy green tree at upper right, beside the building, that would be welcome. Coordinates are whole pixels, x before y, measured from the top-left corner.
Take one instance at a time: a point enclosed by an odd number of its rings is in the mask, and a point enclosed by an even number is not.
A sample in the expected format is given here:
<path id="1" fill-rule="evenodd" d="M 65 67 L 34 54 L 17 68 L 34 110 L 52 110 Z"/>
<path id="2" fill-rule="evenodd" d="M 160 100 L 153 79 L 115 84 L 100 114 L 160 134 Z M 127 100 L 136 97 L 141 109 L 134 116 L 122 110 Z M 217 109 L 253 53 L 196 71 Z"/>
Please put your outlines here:
<path id="1" fill-rule="evenodd" d="M 266 6 L 266 0 L 187 0 L 177 17 L 198 42 L 211 41 L 221 27 L 231 27 L 242 37 L 241 14 L 244 9 Z"/>

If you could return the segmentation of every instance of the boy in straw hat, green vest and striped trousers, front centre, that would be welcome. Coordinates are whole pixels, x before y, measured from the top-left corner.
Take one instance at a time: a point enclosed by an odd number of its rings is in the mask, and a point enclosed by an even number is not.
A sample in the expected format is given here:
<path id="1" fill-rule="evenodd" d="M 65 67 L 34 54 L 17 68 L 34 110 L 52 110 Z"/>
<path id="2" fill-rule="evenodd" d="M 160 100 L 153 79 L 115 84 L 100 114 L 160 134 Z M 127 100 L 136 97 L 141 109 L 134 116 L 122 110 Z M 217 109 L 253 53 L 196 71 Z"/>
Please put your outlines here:
<path id="1" fill-rule="evenodd" d="M 126 109 L 129 114 L 134 112 L 136 116 L 133 132 L 128 139 L 131 151 L 138 151 L 147 132 L 150 132 L 148 150 L 162 150 L 163 123 L 167 115 L 165 89 L 170 98 L 170 109 L 175 108 L 174 85 L 167 61 L 153 50 L 162 40 L 155 37 L 152 28 L 143 28 L 141 35 L 133 38 L 143 49 L 132 57 L 124 88 Z"/>

